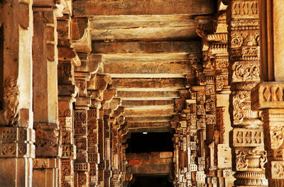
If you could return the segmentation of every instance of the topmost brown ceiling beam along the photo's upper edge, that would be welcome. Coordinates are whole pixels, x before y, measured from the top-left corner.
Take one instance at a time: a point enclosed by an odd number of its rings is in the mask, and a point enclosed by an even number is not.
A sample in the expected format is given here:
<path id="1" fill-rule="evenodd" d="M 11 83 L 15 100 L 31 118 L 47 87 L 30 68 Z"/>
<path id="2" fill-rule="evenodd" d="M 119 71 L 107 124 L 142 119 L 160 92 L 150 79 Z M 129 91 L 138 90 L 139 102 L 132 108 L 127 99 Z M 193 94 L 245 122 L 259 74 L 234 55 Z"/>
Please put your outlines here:
<path id="1" fill-rule="evenodd" d="M 214 1 L 207 0 L 125 0 L 125 1 L 75 1 L 75 17 L 94 15 L 159 15 L 159 14 L 211 14 L 214 13 Z"/>

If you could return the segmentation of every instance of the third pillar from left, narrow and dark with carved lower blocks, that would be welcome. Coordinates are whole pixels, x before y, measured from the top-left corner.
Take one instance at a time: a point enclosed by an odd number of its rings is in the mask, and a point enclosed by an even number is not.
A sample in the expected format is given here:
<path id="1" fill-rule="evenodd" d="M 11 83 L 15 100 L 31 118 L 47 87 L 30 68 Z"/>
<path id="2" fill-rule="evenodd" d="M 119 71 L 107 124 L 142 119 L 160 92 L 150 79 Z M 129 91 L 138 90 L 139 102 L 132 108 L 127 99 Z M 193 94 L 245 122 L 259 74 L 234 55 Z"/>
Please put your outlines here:
<path id="1" fill-rule="evenodd" d="M 60 185 L 74 186 L 74 108 L 78 88 L 75 86 L 74 67 L 81 65 L 80 58 L 73 49 L 70 33 L 71 10 L 64 8 L 64 15 L 57 19 L 58 31 L 58 120 L 62 135 L 62 157 L 60 164 Z"/>

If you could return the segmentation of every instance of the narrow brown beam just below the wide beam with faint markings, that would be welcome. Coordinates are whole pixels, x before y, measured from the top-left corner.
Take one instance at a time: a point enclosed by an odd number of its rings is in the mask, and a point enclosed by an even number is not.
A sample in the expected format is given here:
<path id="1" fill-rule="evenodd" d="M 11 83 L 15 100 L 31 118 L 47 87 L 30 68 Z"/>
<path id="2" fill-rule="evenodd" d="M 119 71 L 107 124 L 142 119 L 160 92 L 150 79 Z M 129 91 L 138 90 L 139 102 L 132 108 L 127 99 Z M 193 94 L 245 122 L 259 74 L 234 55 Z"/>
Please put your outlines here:
<path id="1" fill-rule="evenodd" d="M 185 88 L 185 79 L 112 79 L 111 88 L 119 91 L 175 91 Z"/>

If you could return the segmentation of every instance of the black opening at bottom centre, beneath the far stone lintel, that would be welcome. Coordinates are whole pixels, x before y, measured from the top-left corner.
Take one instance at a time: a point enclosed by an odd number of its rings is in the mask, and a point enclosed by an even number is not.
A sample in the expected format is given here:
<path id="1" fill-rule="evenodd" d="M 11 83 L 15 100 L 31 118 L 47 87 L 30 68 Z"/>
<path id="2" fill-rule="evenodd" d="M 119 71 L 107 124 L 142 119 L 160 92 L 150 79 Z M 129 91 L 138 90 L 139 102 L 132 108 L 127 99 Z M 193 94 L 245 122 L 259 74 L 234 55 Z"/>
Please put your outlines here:
<path id="1" fill-rule="evenodd" d="M 173 187 L 168 176 L 134 176 L 130 187 Z"/>

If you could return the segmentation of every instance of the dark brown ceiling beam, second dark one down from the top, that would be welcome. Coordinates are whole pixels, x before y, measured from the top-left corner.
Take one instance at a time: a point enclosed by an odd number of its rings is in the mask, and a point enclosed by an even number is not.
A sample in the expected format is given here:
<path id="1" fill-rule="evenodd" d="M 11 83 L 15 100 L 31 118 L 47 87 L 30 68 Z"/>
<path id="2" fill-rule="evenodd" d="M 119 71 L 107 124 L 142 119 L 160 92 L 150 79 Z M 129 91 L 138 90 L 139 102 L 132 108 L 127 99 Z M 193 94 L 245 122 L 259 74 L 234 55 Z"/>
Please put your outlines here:
<path id="1" fill-rule="evenodd" d="M 200 52 L 200 42 L 92 42 L 92 53 L 123 54 L 123 53 L 197 53 Z"/>

